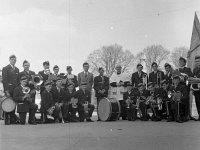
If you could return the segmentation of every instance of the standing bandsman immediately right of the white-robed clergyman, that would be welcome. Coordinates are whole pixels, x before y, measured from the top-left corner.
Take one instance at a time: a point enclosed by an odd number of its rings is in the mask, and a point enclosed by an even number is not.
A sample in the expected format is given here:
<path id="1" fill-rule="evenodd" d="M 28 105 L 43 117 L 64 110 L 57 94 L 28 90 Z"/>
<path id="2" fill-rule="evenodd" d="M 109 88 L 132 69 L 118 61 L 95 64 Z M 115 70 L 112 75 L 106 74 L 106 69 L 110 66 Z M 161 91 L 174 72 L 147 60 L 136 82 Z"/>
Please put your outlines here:
<path id="1" fill-rule="evenodd" d="M 139 83 L 142 83 L 144 77 L 147 77 L 147 74 L 142 71 L 143 66 L 142 64 L 137 64 L 137 70 L 135 73 L 132 74 L 131 81 L 134 87 L 137 87 Z"/>

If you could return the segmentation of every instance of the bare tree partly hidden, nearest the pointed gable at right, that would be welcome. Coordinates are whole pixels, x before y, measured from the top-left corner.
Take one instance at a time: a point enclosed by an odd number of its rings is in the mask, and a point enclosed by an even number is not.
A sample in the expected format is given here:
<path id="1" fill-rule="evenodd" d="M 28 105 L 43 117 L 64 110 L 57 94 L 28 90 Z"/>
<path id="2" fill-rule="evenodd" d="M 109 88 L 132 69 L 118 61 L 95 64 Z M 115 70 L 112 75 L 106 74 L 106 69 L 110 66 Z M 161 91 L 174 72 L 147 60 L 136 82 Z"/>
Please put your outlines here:
<path id="1" fill-rule="evenodd" d="M 188 50 L 189 50 L 189 48 L 187 48 L 185 46 L 176 47 L 173 49 L 170 58 L 171 58 L 171 61 L 175 68 L 179 67 L 179 58 L 180 57 L 187 58 Z"/>

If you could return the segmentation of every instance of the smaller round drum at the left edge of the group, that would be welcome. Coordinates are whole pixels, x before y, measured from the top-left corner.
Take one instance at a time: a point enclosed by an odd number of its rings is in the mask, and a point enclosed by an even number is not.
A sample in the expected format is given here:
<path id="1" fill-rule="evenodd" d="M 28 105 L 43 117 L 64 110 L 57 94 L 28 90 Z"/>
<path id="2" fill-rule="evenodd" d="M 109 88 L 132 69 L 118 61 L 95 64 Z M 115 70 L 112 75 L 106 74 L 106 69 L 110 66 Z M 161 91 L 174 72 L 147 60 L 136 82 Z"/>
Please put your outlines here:
<path id="1" fill-rule="evenodd" d="M 16 103 L 11 97 L 3 97 L 1 102 L 1 108 L 5 112 L 12 112 L 15 110 Z"/>

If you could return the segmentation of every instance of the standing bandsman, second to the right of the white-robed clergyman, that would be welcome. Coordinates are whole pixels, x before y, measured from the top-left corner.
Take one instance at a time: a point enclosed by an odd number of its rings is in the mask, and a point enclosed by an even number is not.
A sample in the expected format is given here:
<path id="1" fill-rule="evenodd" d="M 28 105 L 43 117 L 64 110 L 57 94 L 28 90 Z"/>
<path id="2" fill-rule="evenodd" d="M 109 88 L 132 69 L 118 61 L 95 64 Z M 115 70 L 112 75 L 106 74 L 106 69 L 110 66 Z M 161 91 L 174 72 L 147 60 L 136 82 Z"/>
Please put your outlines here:
<path id="1" fill-rule="evenodd" d="M 153 62 L 151 67 L 153 68 L 153 71 L 149 74 L 149 82 L 152 82 L 155 87 L 158 88 L 160 82 L 164 79 L 164 72 L 158 70 L 158 64 L 156 62 Z"/>

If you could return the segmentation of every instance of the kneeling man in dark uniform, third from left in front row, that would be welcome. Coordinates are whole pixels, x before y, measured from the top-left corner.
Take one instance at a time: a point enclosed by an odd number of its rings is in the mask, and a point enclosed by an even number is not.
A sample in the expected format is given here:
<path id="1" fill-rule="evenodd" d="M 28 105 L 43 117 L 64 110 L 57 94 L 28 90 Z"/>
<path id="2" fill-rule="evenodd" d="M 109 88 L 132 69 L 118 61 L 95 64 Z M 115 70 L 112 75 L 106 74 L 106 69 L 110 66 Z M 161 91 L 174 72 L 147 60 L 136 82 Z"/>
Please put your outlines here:
<path id="1" fill-rule="evenodd" d="M 53 96 L 53 102 L 55 104 L 55 107 L 57 110 L 60 110 L 62 114 L 60 114 L 59 119 L 60 122 L 62 121 L 62 118 L 64 119 L 64 122 L 69 122 L 69 102 L 70 97 L 69 94 L 64 91 L 62 87 L 62 78 L 57 78 L 55 86 L 51 88 L 51 93 Z M 58 120 L 56 120 L 58 122 Z"/>

